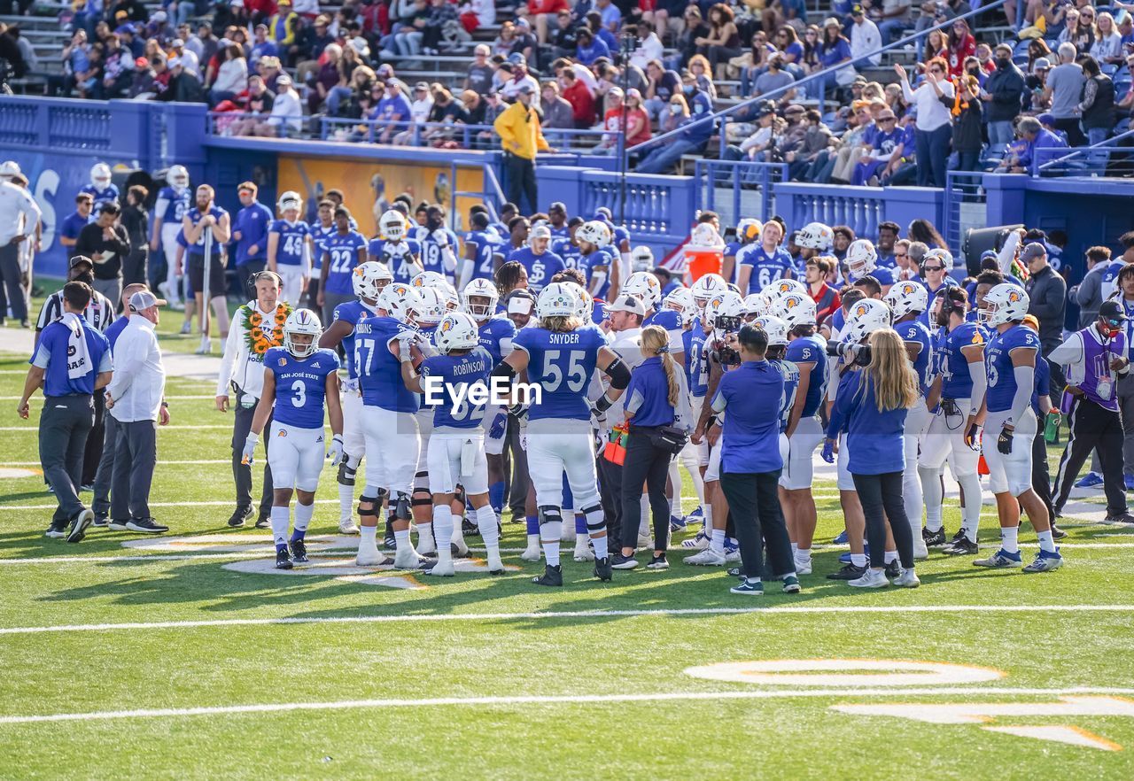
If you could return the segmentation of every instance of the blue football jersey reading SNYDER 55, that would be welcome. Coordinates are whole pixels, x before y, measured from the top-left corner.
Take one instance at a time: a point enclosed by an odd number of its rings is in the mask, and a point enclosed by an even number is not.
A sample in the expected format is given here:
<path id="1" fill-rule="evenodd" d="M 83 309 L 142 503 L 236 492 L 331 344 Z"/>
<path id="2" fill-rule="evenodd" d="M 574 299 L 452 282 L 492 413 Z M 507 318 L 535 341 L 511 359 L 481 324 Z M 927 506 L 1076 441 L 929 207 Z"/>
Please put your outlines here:
<path id="1" fill-rule="evenodd" d="M 528 419 L 568 418 L 590 421 L 586 389 L 607 338 L 596 325 L 583 325 L 566 333 L 544 328 L 525 328 L 513 345 L 528 355 L 527 379 L 542 388 Z"/>

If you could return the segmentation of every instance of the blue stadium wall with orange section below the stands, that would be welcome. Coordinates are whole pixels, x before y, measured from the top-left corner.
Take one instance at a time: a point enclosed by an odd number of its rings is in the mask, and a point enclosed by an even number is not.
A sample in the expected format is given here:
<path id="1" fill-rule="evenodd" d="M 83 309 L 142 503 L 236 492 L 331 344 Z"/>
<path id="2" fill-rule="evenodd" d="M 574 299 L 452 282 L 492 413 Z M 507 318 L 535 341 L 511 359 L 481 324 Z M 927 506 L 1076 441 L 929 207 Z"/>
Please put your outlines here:
<path id="1" fill-rule="evenodd" d="M 339 189 L 367 236 L 376 232 L 378 215 L 400 193 L 409 193 L 415 203 L 443 204 L 458 235 L 469 206 L 485 203 L 494 210 L 505 200 L 501 153 L 492 148 L 245 137 L 214 133 L 213 125 L 205 107 L 195 103 L 0 95 L 0 159 L 19 163 L 43 210 L 36 273 L 64 275 L 66 253 L 56 240 L 56 226 L 74 211 L 75 195 L 99 162 L 111 165 L 124 192 L 125 184 L 160 186 L 164 169 L 179 163 L 194 185 L 211 184 L 220 205 L 234 212 L 239 209 L 236 187 L 246 180 L 259 185 L 260 201 L 269 205 L 279 193 L 298 192 L 312 218 L 319 200 Z M 725 226 L 743 217 L 779 214 L 793 229 L 818 220 L 849 226 L 872 239 L 881 222 L 896 222 L 904 232 L 912 220 L 925 218 L 957 255 L 973 229 L 1024 223 L 1049 234 L 1064 231 L 1063 256 L 1076 264 L 1086 247 L 1117 246 L 1117 237 L 1134 229 L 1134 180 L 1105 176 L 1100 153 L 1093 154 L 1080 168 L 1075 160 L 1049 167 L 1059 169 L 1058 177 L 958 172 L 950 175 L 948 187 L 937 189 L 788 182 L 776 163 L 716 160 L 686 167 L 688 176 L 624 173 L 619 155 L 590 155 L 575 147 L 540 155 L 536 205 L 545 211 L 559 201 L 569 214 L 587 218 L 608 206 L 633 243 L 649 245 L 655 257 L 678 247 L 696 213 L 708 209 Z M 151 197 L 155 193 L 151 187 Z"/>

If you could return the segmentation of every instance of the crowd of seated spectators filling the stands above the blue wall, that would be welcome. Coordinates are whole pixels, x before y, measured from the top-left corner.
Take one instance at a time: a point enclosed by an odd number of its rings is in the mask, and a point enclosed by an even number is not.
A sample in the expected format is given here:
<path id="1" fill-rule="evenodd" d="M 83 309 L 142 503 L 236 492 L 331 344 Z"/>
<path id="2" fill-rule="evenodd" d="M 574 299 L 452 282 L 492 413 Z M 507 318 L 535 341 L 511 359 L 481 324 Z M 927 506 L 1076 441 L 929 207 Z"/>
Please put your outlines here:
<path id="1" fill-rule="evenodd" d="M 1134 18 L 1090 0 L 1022 12 L 1008 0 L 967 19 L 965 0 L 156 8 L 76 2 L 48 93 L 206 102 L 230 114 L 214 127 L 231 135 L 491 148 L 493 120 L 531 87 L 549 137 L 591 130 L 575 150 L 632 150 L 638 172 L 721 156 L 786 163 L 798 180 L 920 186 L 943 186 L 950 169 L 1034 173 L 1052 156 L 1040 150 L 1127 131 L 1134 105 Z M 885 63 L 874 53 L 914 34 Z M 37 67 L 18 25 L 0 34 L 0 57 L 17 75 Z M 457 78 L 413 76 L 439 65 Z M 705 119 L 728 107 L 727 122 Z"/>

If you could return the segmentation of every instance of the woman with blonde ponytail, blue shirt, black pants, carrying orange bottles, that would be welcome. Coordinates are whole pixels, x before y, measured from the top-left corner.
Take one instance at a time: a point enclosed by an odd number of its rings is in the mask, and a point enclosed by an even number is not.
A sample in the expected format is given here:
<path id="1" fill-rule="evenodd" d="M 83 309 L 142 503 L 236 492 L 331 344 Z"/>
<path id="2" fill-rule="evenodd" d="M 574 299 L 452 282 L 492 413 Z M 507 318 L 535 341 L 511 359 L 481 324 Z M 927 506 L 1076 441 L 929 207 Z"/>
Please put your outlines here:
<path id="1" fill-rule="evenodd" d="M 650 493 L 653 516 L 653 559 L 648 569 L 669 569 L 666 549 L 669 546 L 669 500 L 666 479 L 674 451 L 654 444 L 662 426 L 689 430 L 688 391 L 684 372 L 669 355 L 669 334 L 660 325 L 642 329 L 642 357 L 634 367 L 631 384 L 626 387 L 626 421 L 629 423 L 629 443 L 623 467 L 623 528 L 631 529 L 628 538 L 642 523 L 642 484 Z M 634 569 L 634 546 L 623 546 L 611 563 L 613 569 Z"/>

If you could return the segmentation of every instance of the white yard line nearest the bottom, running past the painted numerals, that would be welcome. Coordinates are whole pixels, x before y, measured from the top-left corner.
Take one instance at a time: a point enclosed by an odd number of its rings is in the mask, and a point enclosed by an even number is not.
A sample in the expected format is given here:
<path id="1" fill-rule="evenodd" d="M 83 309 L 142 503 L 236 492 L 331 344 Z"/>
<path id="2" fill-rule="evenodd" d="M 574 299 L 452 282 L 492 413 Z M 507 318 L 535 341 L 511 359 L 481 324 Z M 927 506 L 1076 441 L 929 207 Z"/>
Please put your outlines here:
<path id="1" fill-rule="evenodd" d="M 594 703 L 663 703 L 717 699 L 792 699 L 795 697 L 882 697 L 882 696 L 938 696 L 938 695 L 1128 695 L 1134 689 L 1118 687 L 1077 687 L 1069 689 L 1030 689 L 998 686 L 945 686 L 911 688 L 861 689 L 789 689 L 756 691 L 658 691 L 650 694 L 577 694 L 577 695 L 514 695 L 494 697 L 426 697 L 421 699 L 340 699 L 323 703 L 263 703 L 254 705 L 215 705 L 210 707 L 161 707 L 133 711 L 94 711 L 88 713 L 48 713 L 42 715 L 0 716 L 0 724 L 31 724 L 44 721 L 110 721 L 116 719 L 153 719 L 159 716 L 209 716 L 228 713 L 282 713 L 287 711 L 331 711 L 371 707 L 434 707 L 438 705 L 553 705 Z"/>

